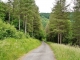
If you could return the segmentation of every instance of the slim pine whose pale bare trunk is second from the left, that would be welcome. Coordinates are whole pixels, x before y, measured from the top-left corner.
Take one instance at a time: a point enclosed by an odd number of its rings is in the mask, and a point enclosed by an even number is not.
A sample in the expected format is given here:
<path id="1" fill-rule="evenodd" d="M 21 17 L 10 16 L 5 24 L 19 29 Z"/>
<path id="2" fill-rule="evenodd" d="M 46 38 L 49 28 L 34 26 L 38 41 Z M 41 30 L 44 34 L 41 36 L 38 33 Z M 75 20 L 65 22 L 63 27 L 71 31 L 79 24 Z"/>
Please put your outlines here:
<path id="1" fill-rule="evenodd" d="M 18 28 L 19 28 L 19 30 L 21 29 L 20 28 L 20 22 L 21 22 L 21 18 L 20 18 L 20 16 L 21 16 L 21 0 L 14 0 L 14 2 L 13 2 L 13 15 L 15 16 L 15 17 L 17 17 L 18 18 L 18 21 L 19 21 L 19 23 L 18 23 Z"/>

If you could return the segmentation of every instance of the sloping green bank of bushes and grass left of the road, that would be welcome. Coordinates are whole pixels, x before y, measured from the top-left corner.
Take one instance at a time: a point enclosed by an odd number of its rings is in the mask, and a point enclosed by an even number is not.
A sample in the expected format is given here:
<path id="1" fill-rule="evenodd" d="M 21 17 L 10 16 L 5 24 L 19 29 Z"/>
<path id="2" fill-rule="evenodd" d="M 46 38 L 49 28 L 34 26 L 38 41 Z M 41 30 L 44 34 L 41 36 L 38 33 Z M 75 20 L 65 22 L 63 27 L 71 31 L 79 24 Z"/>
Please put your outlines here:
<path id="1" fill-rule="evenodd" d="M 0 19 L 0 60 L 16 60 L 41 42 Z"/>

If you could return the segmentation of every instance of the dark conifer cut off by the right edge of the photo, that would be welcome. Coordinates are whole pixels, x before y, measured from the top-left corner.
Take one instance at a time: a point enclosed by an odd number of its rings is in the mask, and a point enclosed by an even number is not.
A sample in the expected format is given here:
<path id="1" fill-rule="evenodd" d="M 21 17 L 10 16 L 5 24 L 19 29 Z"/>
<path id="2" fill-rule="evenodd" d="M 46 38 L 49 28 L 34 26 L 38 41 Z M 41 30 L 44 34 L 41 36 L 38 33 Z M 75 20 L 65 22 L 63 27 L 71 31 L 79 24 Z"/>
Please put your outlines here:
<path id="1" fill-rule="evenodd" d="M 73 13 L 73 33 L 76 39 L 76 44 L 80 45 L 80 0 L 74 1 L 74 13 Z"/>

